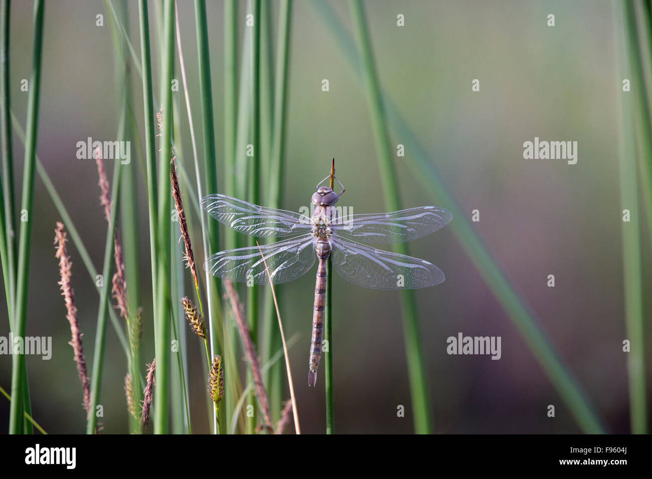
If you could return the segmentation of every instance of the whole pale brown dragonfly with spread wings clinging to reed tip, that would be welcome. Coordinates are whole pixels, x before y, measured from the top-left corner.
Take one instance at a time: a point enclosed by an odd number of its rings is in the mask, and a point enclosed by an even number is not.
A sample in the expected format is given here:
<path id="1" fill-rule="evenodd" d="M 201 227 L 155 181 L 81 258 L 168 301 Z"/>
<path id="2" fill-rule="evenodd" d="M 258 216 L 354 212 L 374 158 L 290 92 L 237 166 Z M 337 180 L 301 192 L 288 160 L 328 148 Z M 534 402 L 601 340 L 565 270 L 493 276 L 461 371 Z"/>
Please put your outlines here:
<path id="1" fill-rule="evenodd" d="M 318 260 L 308 386 L 316 386 L 321 359 L 329 257 L 334 270 L 342 277 L 368 288 L 416 289 L 437 285 L 445 279 L 439 268 L 424 259 L 377 250 L 364 243 L 389 244 L 421 238 L 451 222 L 451 212 L 423 206 L 390 213 L 340 216 L 334 205 L 345 188 L 334 172 L 333 159 L 330 175 L 317 184 L 312 195 L 310 217 L 254 205 L 224 194 L 201 199 L 206 212 L 238 233 L 257 238 L 289 237 L 263 246 L 211 255 L 203 267 L 214 276 L 249 285 L 269 284 L 270 278 L 274 284 L 287 283 L 306 274 Z M 331 186 L 321 186 L 329 178 Z M 333 190 L 334 181 L 342 188 L 339 193 Z"/>

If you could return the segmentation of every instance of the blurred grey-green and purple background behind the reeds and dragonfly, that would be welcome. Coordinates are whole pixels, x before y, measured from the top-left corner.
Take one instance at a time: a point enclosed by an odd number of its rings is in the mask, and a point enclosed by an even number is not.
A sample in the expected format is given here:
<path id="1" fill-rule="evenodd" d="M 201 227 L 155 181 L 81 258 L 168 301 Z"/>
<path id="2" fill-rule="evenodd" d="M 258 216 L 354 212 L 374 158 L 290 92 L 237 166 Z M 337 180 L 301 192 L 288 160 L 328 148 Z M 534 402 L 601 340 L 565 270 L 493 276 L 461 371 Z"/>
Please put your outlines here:
<path id="1" fill-rule="evenodd" d="M 348 4 L 329 2 L 347 28 Z M 181 36 L 194 122 L 201 138 L 194 6 L 179 1 Z M 272 3 L 276 29 L 276 3 Z M 140 59 L 138 6 L 130 2 L 130 31 Z M 222 169 L 223 32 L 222 3 L 208 2 L 216 149 Z M 24 125 L 27 94 L 20 80 L 31 68 L 32 3 L 14 2 L 11 25 L 12 108 Z M 154 21 L 154 5 L 151 3 Z M 314 185 L 336 158 L 347 190 L 340 203 L 354 212 L 385 209 L 379 185 L 370 117 L 361 83 L 342 55 L 323 17 L 310 3 L 296 1 L 291 31 L 286 179 L 282 207 L 307 205 Z M 247 12 L 240 5 L 241 25 Z M 629 394 L 623 302 L 621 210 L 618 169 L 621 91 L 615 35 L 621 25 L 609 1 L 367 1 L 378 74 L 385 92 L 428 152 L 439 177 L 466 212 L 480 210 L 473 229 L 531 307 L 542 330 L 585 390 L 609 431 L 627 433 Z M 546 25 L 555 14 L 556 26 Z M 113 44 L 102 1 L 48 1 L 38 155 L 78 227 L 96 268 L 101 269 L 106 222 L 98 202 L 93 160 L 76 158 L 76 143 L 87 137 L 114 139 L 117 94 Z M 397 27 L 396 15 L 405 26 Z M 242 30 L 241 30 L 242 31 Z M 153 30 L 155 94 L 160 38 Z M 177 64 L 178 65 L 178 64 Z M 177 66 L 175 78 L 181 78 Z M 321 91 L 321 80 L 329 91 Z M 479 79 L 479 92 L 471 81 Z M 140 78 L 134 78 L 134 109 L 142 111 Z M 180 89 L 183 151 L 190 171 L 192 151 Z M 139 117 L 141 121 L 141 115 Z M 142 129 L 141 129 L 142 131 Z M 524 160 L 524 141 L 578 141 L 578 162 Z M 404 143 L 391 132 L 395 148 Z M 202 142 L 198 141 L 200 156 Z M 137 162 L 142 144 L 132 145 Z M 413 152 L 406 150 L 406 156 Z M 22 143 L 14 136 L 16 179 L 22 178 Z M 404 207 L 432 203 L 429 192 L 394 157 Z M 106 163 L 107 171 L 112 162 Z M 263 179 L 263 182 L 265 180 Z M 20 181 L 16 182 L 20 185 Z M 154 356 L 147 199 L 141 177 L 140 268 L 145 310 L 143 358 Z M 450 208 L 447 204 L 437 206 Z M 60 220 L 40 179 L 36 180 L 27 334 L 52 336 L 49 361 L 28 356 L 33 416 L 50 433 L 82 433 L 81 392 L 57 285 L 53 229 Z M 460 220 L 454 218 L 453 222 Z M 213 221 L 211 219 L 211 221 Z M 198 222 L 192 224 L 198 230 Z M 649 285 L 650 239 L 644 228 L 642 263 Z M 199 238 L 199 233 L 196 233 Z M 195 248 L 198 263 L 201 248 Z M 409 244 L 411 255 L 438 265 L 446 281 L 417 291 L 421 340 L 428 364 L 434 430 L 439 433 L 577 433 L 571 413 L 533 358 L 526 342 L 460 247 L 451 227 Z M 98 296 L 72 242 L 73 286 L 87 362 L 93 358 Z M 556 287 L 546 286 L 548 274 Z M 400 297 L 333 280 L 333 361 L 338 433 L 410 433 L 406 358 Z M 321 433 L 325 424 L 323 375 L 316 389 L 305 385 L 314 273 L 279 287 L 291 347 L 303 432 Z M 2 295 L 0 335 L 8 336 Z M 649 298 L 647 299 L 649 311 Z M 648 323 L 649 324 L 649 323 Z M 449 336 L 501 336 L 502 357 L 449 356 Z M 201 368 L 201 344 L 188 337 L 193 426 L 208 431 Z M 647 350 L 650 349 L 649 335 Z M 649 358 L 649 355 L 647 355 Z M 649 366 L 649 361 L 647 362 Z M 10 386 L 11 357 L 0 356 L 0 385 Z M 652 368 L 648 368 L 649 376 Z M 102 386 L 104 431 L 126 433 L 123 377 L 125 358 L 108 327 Z M 649 391 L 649 388 L 648 388 Z M 649 394 L 648 394 L 649 396 Z M 546 416 L 548 405 L 556 417 Z M 406 416 L 396 416 L 398 405 Z M 0 398 L 0 431 L 7 431 L 9 403 Z"/>

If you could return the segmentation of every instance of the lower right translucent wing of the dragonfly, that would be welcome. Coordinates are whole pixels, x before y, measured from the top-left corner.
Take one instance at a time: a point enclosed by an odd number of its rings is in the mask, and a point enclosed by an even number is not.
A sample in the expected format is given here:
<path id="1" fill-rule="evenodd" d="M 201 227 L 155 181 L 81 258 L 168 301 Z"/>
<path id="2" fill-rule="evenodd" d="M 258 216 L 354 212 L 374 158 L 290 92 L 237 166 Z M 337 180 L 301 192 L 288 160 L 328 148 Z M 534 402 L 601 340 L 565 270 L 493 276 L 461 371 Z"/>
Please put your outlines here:
<path id="1" fill-rule="evenodd" d="M 445 279 L 432 263 L 389 251 L 376 250 L 342 238 L 331 237 L 333 267 L 346 280 L 375 289 L 416 289 Z"/>

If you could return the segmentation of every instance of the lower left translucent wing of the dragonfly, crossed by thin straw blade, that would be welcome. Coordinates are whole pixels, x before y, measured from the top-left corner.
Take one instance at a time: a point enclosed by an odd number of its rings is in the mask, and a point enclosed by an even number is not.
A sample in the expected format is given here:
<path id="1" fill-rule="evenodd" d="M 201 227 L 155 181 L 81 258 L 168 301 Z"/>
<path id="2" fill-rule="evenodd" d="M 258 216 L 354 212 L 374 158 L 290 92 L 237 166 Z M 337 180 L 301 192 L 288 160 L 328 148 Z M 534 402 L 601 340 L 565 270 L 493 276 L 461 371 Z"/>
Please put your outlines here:
<path id="1" fill-rule="evenodd" d="M 274 284 L 287 283 L 306 274 L 315 262 L 314 237 L 301 235 L 285 241 L 216 253 L 204 263 L 204 270 L 231 281 L 246 282 L 250 276 L 254 284 L 269 284 L 265 263 Z"/>

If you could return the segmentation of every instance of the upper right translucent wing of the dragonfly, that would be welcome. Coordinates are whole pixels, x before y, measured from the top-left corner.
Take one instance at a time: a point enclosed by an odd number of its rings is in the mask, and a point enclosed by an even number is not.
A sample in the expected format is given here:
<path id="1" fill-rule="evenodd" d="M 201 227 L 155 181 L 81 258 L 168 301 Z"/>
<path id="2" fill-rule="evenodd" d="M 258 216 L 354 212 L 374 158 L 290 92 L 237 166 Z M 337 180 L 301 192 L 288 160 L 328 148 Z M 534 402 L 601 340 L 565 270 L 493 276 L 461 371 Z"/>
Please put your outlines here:
<path id="1" fill-rule="evenodd" d="M 349 214 L 331 229 L 336 235 L 369 243 L 402 243 L 430 235 L 452 220 L 450 211 L 422 206 L 391 213 Z"/>

